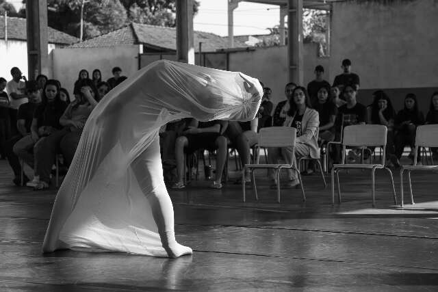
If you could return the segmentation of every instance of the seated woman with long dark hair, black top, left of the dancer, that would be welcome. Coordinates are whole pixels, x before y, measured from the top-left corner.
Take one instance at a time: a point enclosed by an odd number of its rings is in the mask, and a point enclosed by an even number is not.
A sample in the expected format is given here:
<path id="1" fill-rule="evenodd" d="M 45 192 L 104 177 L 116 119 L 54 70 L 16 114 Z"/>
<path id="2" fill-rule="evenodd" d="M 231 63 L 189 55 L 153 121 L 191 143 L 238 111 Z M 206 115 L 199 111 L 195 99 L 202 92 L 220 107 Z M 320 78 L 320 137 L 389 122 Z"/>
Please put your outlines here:
<path id="1" fill-rule="evenodd" d="M 55 80 L 48 80 L 45 83 L 41 96 L 42 102 L 34 111 L 31 133 L 16 142 L 13 148 L 15 155 L 23 159 L 31 168 L 34 168 L 34 147 L 38 148 L 44 137 L 62 128 L 60 117 L 67 107 L 67 104 L 60 100 L 60 91 Z M 35 187 L 36 183 L 38 182 L 31 181 L 27 186 Z"/>

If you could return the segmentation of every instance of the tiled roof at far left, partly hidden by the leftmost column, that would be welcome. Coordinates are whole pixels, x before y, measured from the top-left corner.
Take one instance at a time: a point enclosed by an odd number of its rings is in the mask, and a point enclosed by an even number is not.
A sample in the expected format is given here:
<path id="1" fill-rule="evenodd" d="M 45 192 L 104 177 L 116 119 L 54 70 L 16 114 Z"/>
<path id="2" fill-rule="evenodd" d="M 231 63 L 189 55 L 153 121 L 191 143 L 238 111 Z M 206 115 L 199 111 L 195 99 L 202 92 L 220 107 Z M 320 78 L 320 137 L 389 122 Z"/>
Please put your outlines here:
<path id="1" fill-rule="evenodd" d="M 27 40 L 26 18 L 8 16 L 8 39 Z M 62 31 L 48 27 L 47 41 L 50 44 L 74 44 L 79 38 L 70 36 Z M 0 39 L 5 38 L 5 16 L 0 16 Z"/>

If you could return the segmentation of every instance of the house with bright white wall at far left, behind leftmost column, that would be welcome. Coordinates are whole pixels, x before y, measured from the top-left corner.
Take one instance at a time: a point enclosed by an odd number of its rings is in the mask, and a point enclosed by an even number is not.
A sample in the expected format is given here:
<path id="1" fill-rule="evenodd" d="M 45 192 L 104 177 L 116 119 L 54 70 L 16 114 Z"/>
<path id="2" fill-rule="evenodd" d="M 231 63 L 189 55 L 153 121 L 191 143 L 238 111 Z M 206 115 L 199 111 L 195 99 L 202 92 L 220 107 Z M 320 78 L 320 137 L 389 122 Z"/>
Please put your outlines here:
<path id="1" fill-rule="evenodd" d="M 0 16 L 0 77 L 12 79 L 10 75 L 12 67 L 20 68 L 23 75 L 27 76 L 26 31 L 25 18 Z M 51 27 L 48 28 L 47 33 L 49 54 L 53 49 L 79 42 L 78 38 Z"/>

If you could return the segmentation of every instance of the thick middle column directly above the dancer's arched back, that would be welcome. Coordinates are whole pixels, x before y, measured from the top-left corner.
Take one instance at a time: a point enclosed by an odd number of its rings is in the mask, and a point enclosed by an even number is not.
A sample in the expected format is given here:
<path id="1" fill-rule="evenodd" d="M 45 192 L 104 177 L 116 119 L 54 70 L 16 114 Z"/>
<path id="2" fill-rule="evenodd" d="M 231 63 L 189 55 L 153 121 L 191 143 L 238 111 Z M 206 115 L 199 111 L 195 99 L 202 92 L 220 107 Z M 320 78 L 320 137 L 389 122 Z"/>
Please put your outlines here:
<path id="1" fill-rule="evenodd" d="M 193 1 L 175 2 L 177 3 L 177 59 L 178 62 L 194 64 Z"/>

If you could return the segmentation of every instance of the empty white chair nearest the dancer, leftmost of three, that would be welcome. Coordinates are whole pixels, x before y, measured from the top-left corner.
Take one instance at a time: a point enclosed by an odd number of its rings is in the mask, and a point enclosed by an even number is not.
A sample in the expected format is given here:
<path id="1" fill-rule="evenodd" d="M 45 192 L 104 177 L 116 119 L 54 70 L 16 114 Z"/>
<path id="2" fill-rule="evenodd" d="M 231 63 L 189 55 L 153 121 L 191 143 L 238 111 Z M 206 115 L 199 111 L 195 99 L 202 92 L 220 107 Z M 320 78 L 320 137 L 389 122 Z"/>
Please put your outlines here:
<path id="1" fill-rule="evenodd" d="M 251 176 L 253 178 L 253 187 L 255 191 L 255 199 L 259 200 L 257 196 L 257 187 L 255 185 L 255 174 L 256 169 L 272 169 L 276 175 L 276 193 L 277 202 L 280 202 L 280 171 L 282 169 L 292 169 L 298 173 L 298 180 L 300 181 L 302 200 L 306 200 L 304 187 L 302 186 L 300 171 L 292 164 L 259 164 L 259 149 L 266 147 L 289 147 L 292 146 L 292 155 L 295 156 L 295 140 L 296 140 L 296 129 L 293 127 L 268 127 L 262 128 L 259 132 L 259 143 L 257 144 L 257 161 L 255 164 L 246 164 L 242 170 L 242 191 L 243 191 L 243 201 L 245 202 L 245 172 L 250 170 Z"/>

